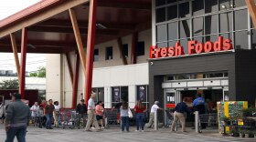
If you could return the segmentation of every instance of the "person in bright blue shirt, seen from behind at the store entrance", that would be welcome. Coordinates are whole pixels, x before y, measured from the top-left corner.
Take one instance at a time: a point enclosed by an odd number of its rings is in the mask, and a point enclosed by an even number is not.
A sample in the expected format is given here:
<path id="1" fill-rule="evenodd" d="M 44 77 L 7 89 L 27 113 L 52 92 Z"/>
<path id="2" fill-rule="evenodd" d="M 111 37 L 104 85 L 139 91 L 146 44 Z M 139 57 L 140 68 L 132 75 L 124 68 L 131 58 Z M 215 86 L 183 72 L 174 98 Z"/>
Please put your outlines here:
<path id="1" fill-rule="evenodd" d="M 199 115 L 206 113 L 206 107 L 205 107 L 206 100 L 202 97 L 200 93 L 197 94 L 197 98 L 193 101 L 193 108 L 195 111 L 199 111 Z M 207 124 L 201 123 L 201 128 L 205 129 L 207 127 Z"/>

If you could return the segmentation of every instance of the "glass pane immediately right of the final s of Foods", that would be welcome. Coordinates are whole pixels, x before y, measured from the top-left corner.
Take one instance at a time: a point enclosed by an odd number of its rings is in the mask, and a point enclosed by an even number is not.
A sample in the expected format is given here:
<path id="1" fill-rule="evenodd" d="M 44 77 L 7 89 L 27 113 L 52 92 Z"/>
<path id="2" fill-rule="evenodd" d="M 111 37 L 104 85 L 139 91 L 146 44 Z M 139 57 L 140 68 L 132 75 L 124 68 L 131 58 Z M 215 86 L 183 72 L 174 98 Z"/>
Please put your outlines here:
<path id="1" fill-rule="evenodd" d="M 235 48 L 236 49 L 248 49 L 248 35 L 247 31 L 241 31 L 235 33 Z"/>

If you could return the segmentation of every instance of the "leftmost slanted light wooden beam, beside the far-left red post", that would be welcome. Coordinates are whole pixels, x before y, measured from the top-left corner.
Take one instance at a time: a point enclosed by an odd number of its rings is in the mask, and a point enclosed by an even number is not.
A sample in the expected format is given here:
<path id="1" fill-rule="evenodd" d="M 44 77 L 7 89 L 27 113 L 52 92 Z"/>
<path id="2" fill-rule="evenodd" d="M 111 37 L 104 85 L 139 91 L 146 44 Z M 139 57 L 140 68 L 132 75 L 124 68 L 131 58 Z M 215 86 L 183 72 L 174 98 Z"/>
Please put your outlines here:
<path id="1" fill-rule="evenodd" d="M 12 42 L 12 48 L 15 56 L 15 62 L 16 62 L 16 73 L 18 76 L 18 81 L 20 81 L 20 65 L 19 65 L 19 59 L 17 56 L 17 48 L 16 48 L 16 37 L 14 34 L 10 34 L 11 42 Z"/>

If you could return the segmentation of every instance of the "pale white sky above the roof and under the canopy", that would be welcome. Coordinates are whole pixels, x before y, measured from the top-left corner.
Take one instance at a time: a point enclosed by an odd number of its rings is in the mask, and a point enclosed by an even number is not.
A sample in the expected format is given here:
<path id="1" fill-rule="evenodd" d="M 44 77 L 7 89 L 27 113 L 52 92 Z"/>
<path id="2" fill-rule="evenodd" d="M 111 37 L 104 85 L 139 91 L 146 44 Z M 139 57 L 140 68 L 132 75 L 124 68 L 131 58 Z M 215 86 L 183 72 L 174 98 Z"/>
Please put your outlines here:
<path id="1" fill-rule="evenodd" d="M 0 20 L 5 17 L 16 14 L 34 5 L 40 0 L 0 0 Z M 20 54 L 18 54 L 20 57 Z M 46 66 L 46 55 L 44 54 L 27 54 L 27 71 L 37 71 L 39 66 Z M 0 70 L 13 70 L 16 73 L 16 64 L 14 54 L 0 53 Z"/>

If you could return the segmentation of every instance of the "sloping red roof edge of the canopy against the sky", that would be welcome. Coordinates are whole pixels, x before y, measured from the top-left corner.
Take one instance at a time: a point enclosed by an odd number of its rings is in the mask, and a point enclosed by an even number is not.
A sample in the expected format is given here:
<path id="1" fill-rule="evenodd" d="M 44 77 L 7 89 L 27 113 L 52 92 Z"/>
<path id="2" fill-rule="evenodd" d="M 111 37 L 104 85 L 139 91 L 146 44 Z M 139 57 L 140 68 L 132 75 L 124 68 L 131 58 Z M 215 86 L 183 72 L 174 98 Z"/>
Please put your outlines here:
<path id="1" fill-rule="evenodd" d="M 14 15 L 10 15 L 5 19 L 0 21 L 0 28 L 3 28 L 7 25 L 12 25 L 20 20 L 27 18 L 29 15 L 35 15 L 36 13 L 41 12 L 43 9 L 49 8 L 53 5 L 58 5 L 63 2 L 63 0 L 42 0 L 34 5 L 30 5 L 27 8 L 17 12 Z"/>

